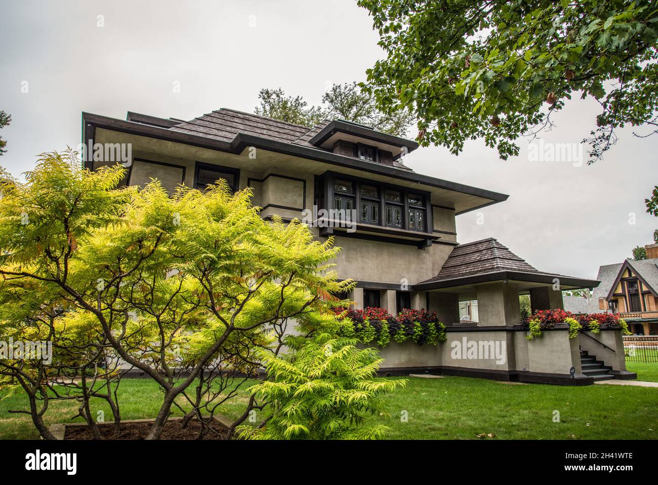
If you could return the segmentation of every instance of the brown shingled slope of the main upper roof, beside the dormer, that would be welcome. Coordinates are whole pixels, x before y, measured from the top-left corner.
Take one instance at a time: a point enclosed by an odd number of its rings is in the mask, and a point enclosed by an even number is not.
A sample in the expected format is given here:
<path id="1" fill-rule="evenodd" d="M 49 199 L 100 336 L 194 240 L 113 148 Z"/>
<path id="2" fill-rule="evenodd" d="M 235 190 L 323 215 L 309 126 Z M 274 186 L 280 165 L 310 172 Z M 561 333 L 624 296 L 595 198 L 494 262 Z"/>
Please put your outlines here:
<path id="1" fill-rule="evenodd" d="M 294 123 L 287 123 L 286 121 L 279 121 L 265 116 L 243 113 L 241 111 L 236 111 L 235 109 L 221 108 L 203 116 L 191 119 L 190 121 L 178 123 L 169 129 L 207 136 L 224 142 L 230 142 L 238 133 L 254 134 L 278 142 L 290 143 L 328 152 L 329 150 L 319 148 L 309 143 L 309 140 L 311 140 L 313 136 L 318 134 L 318 132 L 329 123 L 331 123 L 330 120 L 324 120 L 315 125 L 315 127 L 304 127 L 302 125 L 295 125 Z M 397 160 L 393 160 L 390 165 L 395 168 L 411 171 L 409 167 Z"/>

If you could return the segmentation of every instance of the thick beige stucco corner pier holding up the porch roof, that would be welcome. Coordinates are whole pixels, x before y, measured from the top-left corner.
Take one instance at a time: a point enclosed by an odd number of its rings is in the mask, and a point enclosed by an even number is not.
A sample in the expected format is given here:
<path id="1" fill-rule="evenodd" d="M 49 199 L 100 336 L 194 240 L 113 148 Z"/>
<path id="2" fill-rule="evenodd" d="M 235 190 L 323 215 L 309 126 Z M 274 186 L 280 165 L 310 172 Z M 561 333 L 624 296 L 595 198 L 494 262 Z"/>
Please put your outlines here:
<path id="1" fill-rule="evenodd" d="M 479 326 L 511 326 L 520 322 L 519 285 L 491 283 L 478 287 Z"/>

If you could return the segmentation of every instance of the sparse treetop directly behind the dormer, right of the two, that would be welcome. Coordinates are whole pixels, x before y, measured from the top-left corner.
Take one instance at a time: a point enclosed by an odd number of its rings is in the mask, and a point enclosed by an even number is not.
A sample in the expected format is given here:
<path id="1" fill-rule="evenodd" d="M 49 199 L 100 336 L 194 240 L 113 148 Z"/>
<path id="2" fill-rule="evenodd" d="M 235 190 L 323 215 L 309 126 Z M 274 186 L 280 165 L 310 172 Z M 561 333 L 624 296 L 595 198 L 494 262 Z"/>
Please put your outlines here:
<path id="1" fill-rule="evenodd" d="M 372 127 L 395 136 L 406 136 L 414 117 L 407 111 L 382 113 L 370 94 L 361 92 L 356 82 L 334 84 L 324 96 L 322 103 L 330 119 L 340 118 Z"/>

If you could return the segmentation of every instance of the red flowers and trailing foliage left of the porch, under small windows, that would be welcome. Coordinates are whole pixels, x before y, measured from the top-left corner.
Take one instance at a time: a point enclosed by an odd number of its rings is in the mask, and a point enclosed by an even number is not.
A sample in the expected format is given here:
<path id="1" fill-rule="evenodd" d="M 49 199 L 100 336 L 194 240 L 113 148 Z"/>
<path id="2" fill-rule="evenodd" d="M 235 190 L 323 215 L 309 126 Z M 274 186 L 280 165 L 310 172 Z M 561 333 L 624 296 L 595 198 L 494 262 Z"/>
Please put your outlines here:
<path id="1" fill-rule="evenodd" d="M 376 341 L 385 347 L 391 339 L 417 345 L 437 345 L 445 340 L 445 325 L 438 321 L 436 312 L 406 309 L 393 316 L 384 308 L 368 307 L 350 308 L 346 315 L 342 335 L 355 336 L 363 343 Z"/>

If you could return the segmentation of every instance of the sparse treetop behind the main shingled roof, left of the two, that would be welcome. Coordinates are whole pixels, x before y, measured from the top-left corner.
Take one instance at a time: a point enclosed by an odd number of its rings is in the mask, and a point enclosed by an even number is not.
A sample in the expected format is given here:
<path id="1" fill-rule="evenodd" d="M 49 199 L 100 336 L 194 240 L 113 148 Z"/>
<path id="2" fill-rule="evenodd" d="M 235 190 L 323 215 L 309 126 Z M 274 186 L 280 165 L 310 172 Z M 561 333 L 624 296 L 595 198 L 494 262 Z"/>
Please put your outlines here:
<path id="1" fill-rule="evenodd" d="M 274 118 L 304 127 L 315 127 L 326 116 L 322 108 L 311 106 L 301 96 L 286 96 L 282 88 L 263 88 L 258 94 L 261 105 L 255 107 L 259 116 Z"/>

